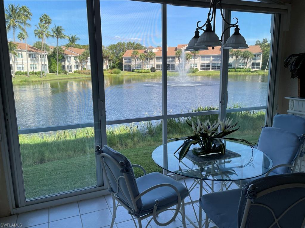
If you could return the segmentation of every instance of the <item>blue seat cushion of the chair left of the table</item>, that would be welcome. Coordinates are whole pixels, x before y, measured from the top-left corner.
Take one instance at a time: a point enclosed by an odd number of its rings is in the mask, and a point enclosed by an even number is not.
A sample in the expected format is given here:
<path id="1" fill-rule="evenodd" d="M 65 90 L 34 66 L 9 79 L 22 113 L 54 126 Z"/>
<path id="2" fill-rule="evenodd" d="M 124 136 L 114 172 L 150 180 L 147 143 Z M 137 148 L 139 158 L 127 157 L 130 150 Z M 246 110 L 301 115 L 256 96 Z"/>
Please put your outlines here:
<path id="1" fill-rule="evenodd" d="M 158 172 L 146 174 L 137 178 L 136 181 L 140 193 L 154 185 L 167 183 L 174 185 L 178 189 L 181 200 L 188 195 L 188 190 L 183 184 Z M 167 186 L 156 188 L 143 195 L 141 199 L 143 203 L 142 215 L 152 212 L 156 199 L 159 200 L 158 209 L 174 205 L 178 202 L 178 196 L 175 190 Z"/>

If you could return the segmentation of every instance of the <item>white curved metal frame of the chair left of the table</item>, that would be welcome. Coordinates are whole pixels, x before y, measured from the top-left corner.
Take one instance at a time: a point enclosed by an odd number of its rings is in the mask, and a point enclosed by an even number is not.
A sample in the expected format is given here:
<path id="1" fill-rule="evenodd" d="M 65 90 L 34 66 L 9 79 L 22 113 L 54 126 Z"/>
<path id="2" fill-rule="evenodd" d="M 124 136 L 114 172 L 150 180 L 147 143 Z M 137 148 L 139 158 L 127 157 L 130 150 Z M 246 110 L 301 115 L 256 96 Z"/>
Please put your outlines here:
<path id="1" fill-rule="evenodd" d="M 121 179 L 121 178 L 124 178 L 124 179 L 125 179 L 125 178 L 126 178 L 126 177 L 125 177 L 126 174 L 123 173 L 123 176 L 120 176 L 119 178 L 117 178 L 117 181 L 116 181 L 116 183 L 117 183 L 117 192 L 113 192 L 113 191 L 112 191 L 112 188 L 111 188 L 110 180 L 109 180 L 109 175 L 112 175 L 113 177 L 115 177 L 115 176 L 114 176 L 114 174 L 111 172 L 111 169 L 109 168 L 109 166 L 108 166 L 108 165 L 106 164 L 106 162 L 104 161 L 104 157 L 107 157 L 108 159 L 110 159 L 114 164 L 117 165 L 117 167 L 118 167 L 119 169 L 121 169 L 121 166 L 122 166 L 122 165 L 125 165 L 124 161 L 120 161 L 120 162 L 118 163 L 113 157 L 111 157 L 111 156 L 109 156 L 108 154 L 105 154 L 105 153 L 100 153 L 100 156 L 101 156 L 102 168 L 103 168 L 103 171 L 106 173 L 107 182 L 108 182 L 108 186 L 109 186 L 109 192 L 111 193 L 112 201 L 113 201 L 113 214 L 112 214 L 112 221 L 111 221 L 110 227 L 111 227 L 111 228 L 113 227 L 114 219 L 115 219 L 115 217 L 116 217 L 117 208 L 118 208 L 119 206 L 123 206 L 123 207 L 128 211 L 128 213 L 131 215 L 131 218 L 132 218 L 133 222 L 135 223 L 135 227 L 137 227 L 137 224 L 136 224 L 135 218 L 134 218 L 134 214 L 135 214 L 134 212 L 137 212 L 137 211 L 135 211 L 134 209 L 132 209 L 129 205 L 127 205 L 127 204 L 126 204 L 125 202 L 123 202 L 119 197 L 117 197 L 117 193 L 118 193 L 119 189 L 120 189 L 120 192 L 124 195 L 124 192 L 121 190 L 120 185 L 119 185 L 119 179 Z M 110 173 L 107 172 L 106 166 L 107 166 L 108 169 L 110 170 Z M 132 167 L 137 167 L 137 168 L 142 169 L 144 175 L 146 175 L 146 171 L 145 171 L 145 169 L 144 169 L 142 166 L 135 164 L 135 165 L 132 165 Z M 116 178 L 115 178 L 115 179 L 116 179 Z M 150 216 L 152 216 L 152 218 L 148 221 L 148 223 L 147 223 L 147 225 L 145 226 L 145 228 L 148 227 L 149 223 L 150 223 L 152 220 L 154 220 L 154 222 L 155 222 L 157 225 L 159 225 L 159 226 L 167 226 L 167 225 L 169 225 L 170 223 L 172 223 L 172 222 L 176 219 L 178 213 L 180 213 L 181 216 L 182 216 L 183 227 L 184 227 L 184 228 L 186 227 L 186 226 L 185 226 L 184 199 L 181 200 L 180 192 L 178 191 L 178 189 L 177 189 L 174 185 L 167 184 L 167 183 L 159 184 L 159 185 L 154 185 L 154 186 L 152 186 L 152 187 L 146 189 L 145 191 L 141 192 L 141 193 L 140 193 L 139 195 L 137 195 L 136 197 L 134 197 L 133 194 L 131 194 L 131 186 L 130 186 L 130 184 L 128 183 L 128 181 L 125 181 L 125 184 L 126 184 L 127 189 L 128 189 L 129 197 L 130 197 L 130 199 L 131 199 L 131 201 L 132 201 L 132 206 L 133 206 L 133 208 L 135 208 L 135 209 L 137 208 L 137 205 L 136 205 L 137 200 L 140 199 L 140 198 L 141 198 L 143 195 L 145 195 L 146 193 L 148 193 L 148 192 L 150 192 L 150 191 L 152 191 L 153 189 L 156 189 L 156 188 L 165 187 L 165 186 L 170 187 L 170 188 L 173 188 L 173 189 L 175 190 L 175 192 L 177 193 L 177 196 L 178 196 L 178 202 L 177 202 L 177 203 L 174 203 L 173 205 L 168 206 L 168 208 L 158 209 L 159 200 L 156 199 L 156 201 L 155 201 L 155 206 L 154 206 L 152 212 L 150 212 L 150 213 L 148 213 L 148 214 L 146 214 L 146 215 L 143 215 L 143 216 L 135 216 L 136 219 L 138 220 L 139 228 L 142 228 L 142 220 L 143 220 L 143 219 L 146 219 L 146 218 L 148 218 L 148 217 L 150 217 Z M 126 196 L 125 196 L 125 197 L 126 197 Z M 127 197 L 126 197 L 126 198 L 127 198 Z M 117 204 L 116 204 L 116 201 L 118 202 Z M 170 208 L 170 207 L 175 206 L 175 205 L 176 205 L 176 209 L 171 209 L 171 208 Z M 180 209 L 181 209 L 181 210 L 180 210 Z M 174 211 L 175 211 L 174 216 L 173 216 L 169 221 L 167 221 L 166 223 L 160 223 L 160 222 L 157 220 L 157 216 L 158 216 L 161 212 L 168 211 L 168 210 L 174 210 Z"/>

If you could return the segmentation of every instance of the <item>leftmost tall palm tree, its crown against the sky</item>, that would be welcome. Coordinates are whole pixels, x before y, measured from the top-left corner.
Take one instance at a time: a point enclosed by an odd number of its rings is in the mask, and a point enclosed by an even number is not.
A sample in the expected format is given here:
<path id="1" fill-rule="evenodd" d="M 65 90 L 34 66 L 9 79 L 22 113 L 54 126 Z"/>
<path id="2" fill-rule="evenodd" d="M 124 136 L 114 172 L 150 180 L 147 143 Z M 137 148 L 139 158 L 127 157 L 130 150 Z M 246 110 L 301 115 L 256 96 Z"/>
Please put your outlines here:
<path id="1" fill-rule="evenodd" d="M 21 20 L 21 12 L 19 5 L 15 6 L 15 4 L 9 4 L 7 8 L 5 8 L 5 24 L 7 31 L 13 29 L 13 40 L 15 42 L 15 31 L 16 29 L 20 29 L 23 31 L 22 20 Z"/>

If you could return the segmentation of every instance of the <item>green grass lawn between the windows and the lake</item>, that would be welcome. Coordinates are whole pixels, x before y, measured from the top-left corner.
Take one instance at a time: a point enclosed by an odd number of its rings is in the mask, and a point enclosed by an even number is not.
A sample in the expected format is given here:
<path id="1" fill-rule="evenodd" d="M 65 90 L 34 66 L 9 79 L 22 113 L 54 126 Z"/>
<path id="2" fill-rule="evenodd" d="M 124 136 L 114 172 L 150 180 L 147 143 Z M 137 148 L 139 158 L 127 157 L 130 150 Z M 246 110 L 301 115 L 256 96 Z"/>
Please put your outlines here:
<path id="1" fill-rule="evenodd" d="M 214 107 L 196 111 L 208 109 Z M 213 121 L 217 116 L 201 116 L 200 119 Z M 239 121 L 240 129 L 234 133 L 235 137 L 257 142 L 264 125 L 264 112 L 236 112 L 228 116 Z M 168 138 L 191 134 L 184 118 L 169 119 L 167 125 Z M 19 140 L 27 199 L 95 185 L 93 128 L 20 135 Z M 161 143 L 161 123 L 145 122 L 138 127 L 131 124 L 107 129 L 108 146 L 123 153 L 132 164 L 142 165 L 148 173 L 162 171 L 151 157 Z M 135 175 L 141 176 L 142 171 L 135 169 Z"/>

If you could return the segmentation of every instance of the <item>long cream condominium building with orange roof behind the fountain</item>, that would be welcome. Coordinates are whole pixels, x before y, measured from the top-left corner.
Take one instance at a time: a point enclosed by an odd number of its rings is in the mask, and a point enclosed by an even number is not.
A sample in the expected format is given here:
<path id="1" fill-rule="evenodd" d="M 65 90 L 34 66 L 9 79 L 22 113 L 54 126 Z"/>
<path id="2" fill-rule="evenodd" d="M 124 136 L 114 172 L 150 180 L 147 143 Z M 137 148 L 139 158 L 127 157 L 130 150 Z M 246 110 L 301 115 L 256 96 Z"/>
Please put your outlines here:
<path id="1" fill-rule="evenodd" d="M 187 44 L 178 44 L 177 47 L 167 47 L 167 70 L 175 71 L 176 67 L 179 64 L 182 64 L 181 55 L 180 57 L 176 56 L 176 51 L 181 50 L 185 53 L 191 53 L 190 51 L 185 51 Z M 241 67 L 244 68 L 246 64 L 246 68 L 251 69 L 261 69 L 262 65 L 262 50 L 259 45 L 249 46 L 248 49 L 239 49 L 241 51 L 248 50 L 253 53 L 254 57 L 248 60 L 248 63 L 244 62 L 242 57 L 236 59 L 235 56 L 229 54 L 229 68 Z M 123 70 L 131 71 L 132 69 L 142 69 L 143 62 L 137 56 L 136 58 L 131 56 L 134 50 L 127 50 L 123 55 Z M 162 47 L 148 47 L 144 50 L 138 50 L 139 54 L 141 53 L 149 53 L 154 52 L 156 56 L 149 60 L 147 57 L 144 61 L 144 69 L 150 69 L 151 67 L 156 67 L 157 71 L 162 70 Z M 195 58 L 195 60 L 194 60 Z M 185 63 L 186 68 L 198 68 L 199 71 L 210 71 L 210 70 L 220 70 L 220 61 L 221 61 L 221 46 L 215 47 L 209 50 L 202 50 L 194 57 Z"/>

